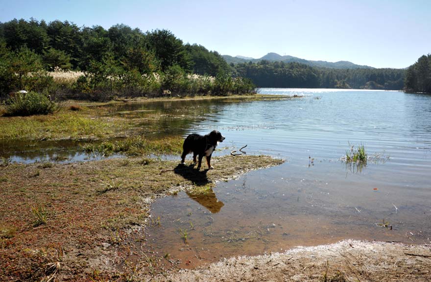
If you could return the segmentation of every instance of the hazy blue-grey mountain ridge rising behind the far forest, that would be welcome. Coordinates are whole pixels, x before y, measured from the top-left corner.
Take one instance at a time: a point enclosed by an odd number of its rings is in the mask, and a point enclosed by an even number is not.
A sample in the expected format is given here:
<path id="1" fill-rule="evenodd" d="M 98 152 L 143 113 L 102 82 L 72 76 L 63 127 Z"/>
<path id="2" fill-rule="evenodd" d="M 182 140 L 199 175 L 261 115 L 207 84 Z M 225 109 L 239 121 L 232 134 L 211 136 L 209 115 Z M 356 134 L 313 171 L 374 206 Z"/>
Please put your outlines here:
<path id="1" fill-rule="evenodd" d="M 236 57 L 232 57 L 229 55 L 223 55 L 224 60 L 226 61 L 226 63 L 230 64 L 240 64 L 240 63 L 247 63 L 247 62 L 260 62 L 262 60 L 266 60 L 269 62 L 284 62 L 284 63 L 301 63 L 301 64 L 305 64 L 305 65 L 311 65 L 311 66 L 317 66 L 317 67 L 328 67 L 328 68 L 374 68 L 372 66 L 368 66 L 368 65 L 356 65 L 353 64 L 352 62 L 348 62 L 348 61 L 339 61 L 339 62 L 326 62 L 326 61 L 310 61 L 310 60 L 305 60 L 305 59 L 301 59 L 301 58 L 297 58 L 297 57 L 293 57 L 293 56 L 282 56 L 279 55 L 277 53 L 268 53 L 265 56 L 263 56 L 262 58 L 259 59 L 253 59 L 250 57 L 244 57 L 244 56 L 236 56 Z"/>

